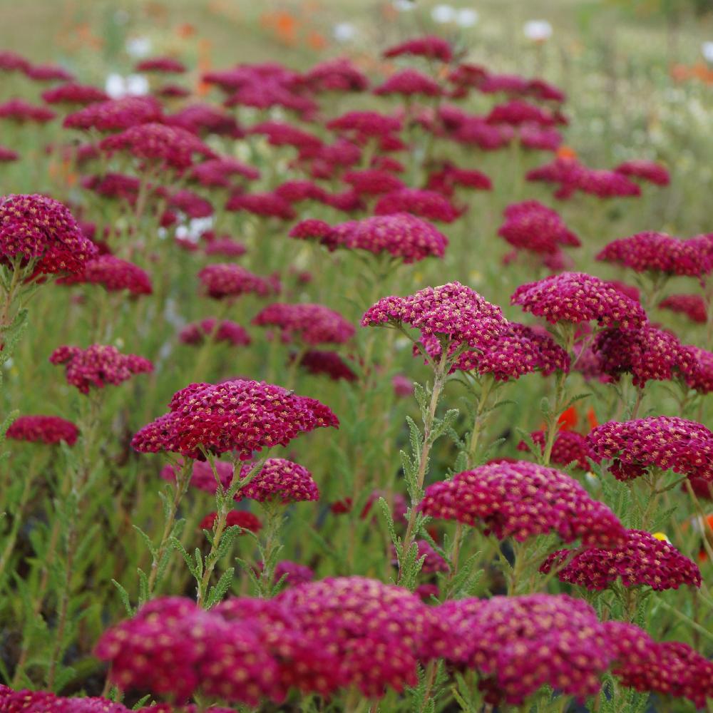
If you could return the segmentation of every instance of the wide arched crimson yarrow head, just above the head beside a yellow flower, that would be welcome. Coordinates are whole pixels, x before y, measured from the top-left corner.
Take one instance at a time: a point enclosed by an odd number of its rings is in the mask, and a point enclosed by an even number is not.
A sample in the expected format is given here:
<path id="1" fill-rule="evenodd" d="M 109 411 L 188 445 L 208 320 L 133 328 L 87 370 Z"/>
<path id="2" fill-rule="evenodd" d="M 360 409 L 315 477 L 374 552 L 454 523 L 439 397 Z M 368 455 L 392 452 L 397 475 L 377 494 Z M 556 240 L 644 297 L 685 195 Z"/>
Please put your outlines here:
<path id="1" fill-rule="evenodd" d="M 557 533 L 585 547 L 616 547 L 624 528 L 607 506 L 592 500 L 570 476 L 528 461 L 491 463 L 456 473 L 426 488 L 424 515 L 481 527 L 499 540 L 524 542 Z"/>

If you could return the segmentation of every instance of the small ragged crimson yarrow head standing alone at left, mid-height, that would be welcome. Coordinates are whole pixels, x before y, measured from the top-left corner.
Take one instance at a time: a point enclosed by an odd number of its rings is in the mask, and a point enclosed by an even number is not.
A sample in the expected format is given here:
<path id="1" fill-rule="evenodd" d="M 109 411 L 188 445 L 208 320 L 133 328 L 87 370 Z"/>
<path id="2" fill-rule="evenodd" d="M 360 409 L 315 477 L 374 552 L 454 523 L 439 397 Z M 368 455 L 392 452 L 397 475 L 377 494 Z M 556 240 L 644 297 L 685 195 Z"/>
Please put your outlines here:
<path id="1" fill-rule="evenodd" d="M 49 358 L 51 364 L 65 364 L 67 383 L 76 386 L 82 394 L 91 387 L 103 389 L 118 386 L 135 374 L 148 374 L 153 364 L 136 354 L 122 354 L 116 347 L 92 344 L 91 347 L 58 347 Z"/>

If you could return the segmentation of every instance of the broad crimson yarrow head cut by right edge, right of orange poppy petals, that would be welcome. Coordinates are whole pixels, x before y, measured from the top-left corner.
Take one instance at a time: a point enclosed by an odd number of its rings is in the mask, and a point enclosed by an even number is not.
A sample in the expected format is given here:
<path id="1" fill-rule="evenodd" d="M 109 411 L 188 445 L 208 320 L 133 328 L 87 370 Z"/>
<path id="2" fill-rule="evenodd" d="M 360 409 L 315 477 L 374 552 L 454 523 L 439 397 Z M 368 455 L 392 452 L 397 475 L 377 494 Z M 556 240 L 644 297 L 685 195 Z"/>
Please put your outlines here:
<path id="1" fill-rule="evenodd" d="M 620 481 L 660 468 L 682 476 L 713 481 L 713 433 L 695 421 L 677 416 L 652 416 L 635 421 L 607 421 L 587 436 L 609 470 Z"/>

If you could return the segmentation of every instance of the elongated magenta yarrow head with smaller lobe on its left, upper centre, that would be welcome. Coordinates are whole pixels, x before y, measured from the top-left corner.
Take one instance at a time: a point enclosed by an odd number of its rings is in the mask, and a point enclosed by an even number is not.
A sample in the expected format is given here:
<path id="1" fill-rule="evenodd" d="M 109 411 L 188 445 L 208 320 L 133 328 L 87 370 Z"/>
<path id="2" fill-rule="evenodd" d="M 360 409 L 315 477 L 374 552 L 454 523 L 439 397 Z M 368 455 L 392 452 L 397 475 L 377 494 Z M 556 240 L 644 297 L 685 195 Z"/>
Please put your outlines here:
<path id="1" fill-rule="evenodd" d="M 388 252 L 405 263 L 426 257 L 443 257 L 448 238 L 426 220 L 408 213 L 374 215 L 363 220 L 349 220 L 334 226 L 308 219 L 297 223 L 290 235 L 316 238 L 328 250 L 367 250 L 379 255 Z"/>

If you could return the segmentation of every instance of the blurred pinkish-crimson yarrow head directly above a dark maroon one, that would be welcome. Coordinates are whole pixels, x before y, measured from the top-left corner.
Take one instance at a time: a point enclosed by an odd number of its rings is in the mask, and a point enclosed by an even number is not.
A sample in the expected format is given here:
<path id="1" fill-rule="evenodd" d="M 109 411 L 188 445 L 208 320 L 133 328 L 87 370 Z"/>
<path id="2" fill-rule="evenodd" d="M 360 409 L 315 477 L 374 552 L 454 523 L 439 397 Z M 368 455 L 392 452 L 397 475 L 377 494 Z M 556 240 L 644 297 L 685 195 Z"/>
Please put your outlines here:
<path id="1" fill-rule="evenodd" d="M 354 325 L 324 304 L 268 304 L 252 320 L 259 327 L 279 327 L 282 340 L 304 344 L 344 344 L 354 336 Z"/>

